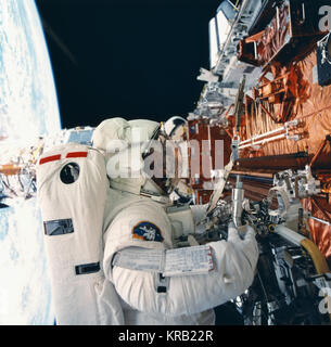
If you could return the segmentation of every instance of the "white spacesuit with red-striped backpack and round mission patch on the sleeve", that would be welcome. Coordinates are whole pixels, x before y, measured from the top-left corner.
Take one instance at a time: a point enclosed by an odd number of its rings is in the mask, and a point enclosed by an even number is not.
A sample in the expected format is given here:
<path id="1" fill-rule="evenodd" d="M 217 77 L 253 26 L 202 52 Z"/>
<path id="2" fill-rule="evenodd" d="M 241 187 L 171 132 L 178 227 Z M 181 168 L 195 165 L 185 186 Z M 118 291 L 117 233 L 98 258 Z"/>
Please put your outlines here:
<path id="1" fill-rule="evenodd" d="M 156 265 L 139 262 L 157 249 L 178 247 L 200 218 L 195 208 L 173 205 L 144 175 L 114 175 L 114 158 L 118 174 L 120 158 L 133 157 L 132 133 L 139 132 L 142 162 L 158 126 L 107 119 L 94 131 L 94 149 L 64 145 L 41 157 L 38 194 L 59 324 L 214 324 L 213 308 L 252 284 L 258 249 L 251 228 L 244 240 L 229 228 L 228 241 L 209 243 L 214 268 L 204 273 L 167 277 L 153 270 Z M 116 152 L 113 140 L 129 146 Z M 131 162 L 124 162 L 127 169 Z M 114 261 L 126 249 L 139 250 L 140 259 L 129 259 L 129 267 Z"/>

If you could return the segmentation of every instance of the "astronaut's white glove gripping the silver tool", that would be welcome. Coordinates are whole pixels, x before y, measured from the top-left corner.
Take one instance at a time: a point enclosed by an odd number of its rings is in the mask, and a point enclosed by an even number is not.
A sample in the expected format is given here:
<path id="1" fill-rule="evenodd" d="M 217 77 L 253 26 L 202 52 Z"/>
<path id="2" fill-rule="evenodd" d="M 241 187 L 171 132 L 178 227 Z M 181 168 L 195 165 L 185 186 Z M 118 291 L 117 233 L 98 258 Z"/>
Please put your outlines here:
<path id="1" fill-rule="evenodd" d="M 252 269 L 256 268 L 258 259 L 258 246 L 255 239 L 255 230 L 251 226 L 245 226 L 245 234 L 242 240 L 234 224 L 231 222 L 228 228 L 228 242 L 242 252 L 249 259 Z"/>

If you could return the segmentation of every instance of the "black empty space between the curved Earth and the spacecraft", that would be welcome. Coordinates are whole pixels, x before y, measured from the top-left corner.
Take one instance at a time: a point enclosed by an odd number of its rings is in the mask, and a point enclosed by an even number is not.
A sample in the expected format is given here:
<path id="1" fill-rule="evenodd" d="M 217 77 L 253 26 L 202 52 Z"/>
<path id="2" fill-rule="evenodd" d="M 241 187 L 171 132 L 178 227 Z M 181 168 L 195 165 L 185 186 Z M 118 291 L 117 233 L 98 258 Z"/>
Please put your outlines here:
<path id="1" fill-rule="evenodd" d="M 63 128 L 195 108 L 215 0 L 36 0 Z M 61 49 L 56 38 L 68 49 Z M 59 42 L 59 40 L 58 40 Z"/>

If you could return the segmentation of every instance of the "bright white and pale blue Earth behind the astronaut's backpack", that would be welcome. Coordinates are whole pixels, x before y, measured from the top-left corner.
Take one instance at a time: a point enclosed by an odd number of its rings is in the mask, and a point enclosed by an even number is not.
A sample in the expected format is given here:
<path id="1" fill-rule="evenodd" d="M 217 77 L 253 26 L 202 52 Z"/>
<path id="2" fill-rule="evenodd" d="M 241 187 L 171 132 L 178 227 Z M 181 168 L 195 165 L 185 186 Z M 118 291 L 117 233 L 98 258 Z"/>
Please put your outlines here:
<path id="1" fill-rule="evenodd" d="M 0 2 L 0 142 L 29 145 L 61 130 L 50 56 L 33 0 Z M 1 162 L 1 151 L 0 151 Z M 0 324 L 53 324 L 36 197 L 0 209 Z"/>

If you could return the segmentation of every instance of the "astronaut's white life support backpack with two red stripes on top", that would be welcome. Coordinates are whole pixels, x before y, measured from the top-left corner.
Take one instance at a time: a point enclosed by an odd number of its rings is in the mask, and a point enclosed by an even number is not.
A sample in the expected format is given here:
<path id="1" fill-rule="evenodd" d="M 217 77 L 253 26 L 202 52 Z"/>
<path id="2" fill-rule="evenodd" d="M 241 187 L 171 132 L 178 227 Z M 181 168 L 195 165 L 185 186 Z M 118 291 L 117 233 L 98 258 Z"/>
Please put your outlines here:
<path id="1" fill-rule="evenodd" d="M 107 190 L 104 157 L 92 147 L 64 144 L 39 159 L 38 203 L 58 324 L 124 323 L 102 269 Z"/>

